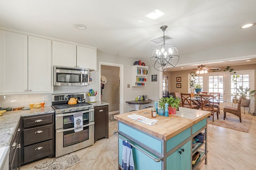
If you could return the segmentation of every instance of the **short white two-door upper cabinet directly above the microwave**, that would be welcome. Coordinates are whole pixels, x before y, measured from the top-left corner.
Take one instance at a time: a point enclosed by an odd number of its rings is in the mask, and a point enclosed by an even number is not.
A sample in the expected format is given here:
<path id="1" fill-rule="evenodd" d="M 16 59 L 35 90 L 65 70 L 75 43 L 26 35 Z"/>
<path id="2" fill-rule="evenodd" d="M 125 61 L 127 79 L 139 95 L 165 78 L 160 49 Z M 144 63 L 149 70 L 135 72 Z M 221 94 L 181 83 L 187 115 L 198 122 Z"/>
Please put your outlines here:
<path id="1" fill-rule="evenodd" d="M 96 70 L 96 48 L 53 41 L 52 65 Z"/>

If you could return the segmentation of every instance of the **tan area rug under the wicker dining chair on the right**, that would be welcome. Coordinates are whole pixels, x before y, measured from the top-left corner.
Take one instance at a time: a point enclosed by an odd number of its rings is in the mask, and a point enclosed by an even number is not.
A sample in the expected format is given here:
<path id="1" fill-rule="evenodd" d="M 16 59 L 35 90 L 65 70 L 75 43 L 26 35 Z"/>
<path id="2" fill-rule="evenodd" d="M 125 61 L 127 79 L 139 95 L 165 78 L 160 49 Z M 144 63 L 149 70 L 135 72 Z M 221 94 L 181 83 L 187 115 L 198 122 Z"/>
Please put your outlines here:
<path id="1" fill-rule="evenodd" d="M 211 125 L 216 125 L 219 127 L 230 128 L 242 132 L 248 133 L 250 131 L 252 115 L 242 114 L 242 123 L 240 123 L 239 117 L 226 113 L 225 120 L 223 119 L 224 113 L 219 114 L 219 119 L 217 119 L 216 113 L 214 113 L 214 122 L 212 122 L 212 116 L 208 117 L 207 123 Z"/>

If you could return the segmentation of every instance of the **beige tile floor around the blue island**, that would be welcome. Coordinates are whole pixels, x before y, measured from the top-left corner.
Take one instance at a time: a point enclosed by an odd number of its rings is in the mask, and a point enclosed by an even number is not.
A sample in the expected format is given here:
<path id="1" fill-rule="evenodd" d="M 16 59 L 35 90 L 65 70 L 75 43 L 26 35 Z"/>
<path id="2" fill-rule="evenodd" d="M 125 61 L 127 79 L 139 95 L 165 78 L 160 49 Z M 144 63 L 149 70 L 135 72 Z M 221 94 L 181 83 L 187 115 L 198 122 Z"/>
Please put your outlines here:
<path id="1" fill-rule="evenodd" d="M 203 162 L 198 170 L 256 169 L 256 116 L 246 115 L 252 117 L 249 133 L 208 124 L 208 164 Z M 82 161 L 68 170 L 118 170 L 118 139 L 113 135 L 118 129 L 117 123 L 109 122 L 108 139 L 103 138 L 92 146 L 76 151 Z M 43 161 L 22 166 L 21 170 Z"/>

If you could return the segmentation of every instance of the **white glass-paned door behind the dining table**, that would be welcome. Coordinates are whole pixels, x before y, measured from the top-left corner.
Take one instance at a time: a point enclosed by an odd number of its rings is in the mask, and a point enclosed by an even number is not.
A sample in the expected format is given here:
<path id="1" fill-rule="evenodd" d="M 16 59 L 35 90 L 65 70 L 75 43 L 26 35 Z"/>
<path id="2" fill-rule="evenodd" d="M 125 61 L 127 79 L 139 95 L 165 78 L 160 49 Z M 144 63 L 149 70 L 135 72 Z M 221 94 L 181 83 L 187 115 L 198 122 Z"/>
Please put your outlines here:
<path id="1" fill-rule="evenodd" d="M 220 99 L 226 100 L 227 73 L 207 73 L 204 82 L 204 89 L 208 89 L 208 94 L 218 92 L 220 93 Z M 220 103 L 220 109 L 223 109 L 226 104 L 226 102 Z"/>

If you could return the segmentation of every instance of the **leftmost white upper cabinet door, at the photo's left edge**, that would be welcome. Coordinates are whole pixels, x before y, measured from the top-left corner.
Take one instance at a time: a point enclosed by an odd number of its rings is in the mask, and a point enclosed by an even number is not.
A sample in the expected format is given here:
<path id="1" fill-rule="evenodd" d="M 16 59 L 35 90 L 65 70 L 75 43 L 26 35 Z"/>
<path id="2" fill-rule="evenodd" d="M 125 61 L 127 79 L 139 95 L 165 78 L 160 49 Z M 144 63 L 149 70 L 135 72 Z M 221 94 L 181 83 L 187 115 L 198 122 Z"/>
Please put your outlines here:
<path id="1" fill-rule="evenodd" d="M 0 93 L 28 89 L 28 36 L 0 30 Z"/>

